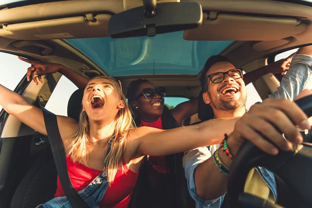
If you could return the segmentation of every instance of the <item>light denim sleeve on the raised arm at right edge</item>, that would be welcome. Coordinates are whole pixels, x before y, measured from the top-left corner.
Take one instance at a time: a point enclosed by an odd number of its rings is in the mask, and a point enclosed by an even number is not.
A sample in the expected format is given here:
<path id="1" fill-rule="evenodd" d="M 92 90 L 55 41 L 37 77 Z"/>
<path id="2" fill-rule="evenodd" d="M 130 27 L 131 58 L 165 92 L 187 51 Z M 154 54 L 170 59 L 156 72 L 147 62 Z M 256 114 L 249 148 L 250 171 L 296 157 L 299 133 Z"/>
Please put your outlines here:
<path id="1" fill-rule="evenodd" d="M 277 91 L 269 98 L 294 100 L 303 89 L 312 89 L 312 56 L 295 54 L 290 68 L 282 78 Z"/>

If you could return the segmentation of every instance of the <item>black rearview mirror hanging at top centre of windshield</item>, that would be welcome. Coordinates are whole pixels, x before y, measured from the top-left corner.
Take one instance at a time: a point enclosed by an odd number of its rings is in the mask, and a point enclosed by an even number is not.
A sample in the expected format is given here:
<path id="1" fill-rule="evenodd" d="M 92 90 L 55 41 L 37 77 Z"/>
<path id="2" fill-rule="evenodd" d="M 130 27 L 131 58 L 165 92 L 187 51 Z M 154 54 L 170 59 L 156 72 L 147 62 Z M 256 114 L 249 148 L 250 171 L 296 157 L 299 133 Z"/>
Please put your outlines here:
<path id="1" fill-rule="evenodd" d="M 144 6 L 113 15 L 108 32 L 112 38 L 155 36 L 193 29 L 202 24 L 202 6 L 197 2 L 143 0 Z"/>

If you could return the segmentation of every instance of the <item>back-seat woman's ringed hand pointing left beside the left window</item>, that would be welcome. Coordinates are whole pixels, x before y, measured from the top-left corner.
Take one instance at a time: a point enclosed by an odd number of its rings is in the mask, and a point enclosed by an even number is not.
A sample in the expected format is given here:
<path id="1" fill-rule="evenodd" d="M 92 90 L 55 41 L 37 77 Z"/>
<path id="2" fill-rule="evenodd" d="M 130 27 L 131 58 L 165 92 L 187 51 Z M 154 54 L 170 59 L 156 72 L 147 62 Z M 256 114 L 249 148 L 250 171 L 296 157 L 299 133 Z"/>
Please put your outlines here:
<path id="1" fill-rule="evenodd" d="M 55 64 L 55 63 L 39 63 L 37 61 L 32 61 L 28 59 L 24 59 L 22 57 L 18 57 L 20 60 L 25 61 L 32 66 L 27 69 L 27 80 L 29 81 L 32 75 L 32 80 L 38 85 L 38 80 L 42 83 L 41 76 L 46 74 L 54 74 L 58 72 L 58 70 L 62 69 L 64 66 L 61 64 Z M 32 73 L 34 71 L 34 73 Z M 38 80 L 37 80 L 38 78 Z"/>

